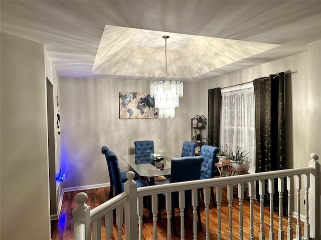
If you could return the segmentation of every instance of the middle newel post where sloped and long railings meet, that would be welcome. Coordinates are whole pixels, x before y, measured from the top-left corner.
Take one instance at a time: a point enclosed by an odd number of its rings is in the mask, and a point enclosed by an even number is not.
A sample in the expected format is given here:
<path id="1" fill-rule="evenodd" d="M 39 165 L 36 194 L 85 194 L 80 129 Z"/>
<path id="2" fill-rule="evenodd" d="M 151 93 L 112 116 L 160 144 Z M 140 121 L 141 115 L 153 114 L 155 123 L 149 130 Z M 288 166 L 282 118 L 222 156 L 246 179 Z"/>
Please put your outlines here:
<path id="1" fill-rule="evenodd" d="M 125 239 L 137 240 L 137 184 L 133 180 L 135 173 L 128 171 L 128 180 L 124 183 L 124 192 L 128 193 L 129 199 L 125 201 Z"/>

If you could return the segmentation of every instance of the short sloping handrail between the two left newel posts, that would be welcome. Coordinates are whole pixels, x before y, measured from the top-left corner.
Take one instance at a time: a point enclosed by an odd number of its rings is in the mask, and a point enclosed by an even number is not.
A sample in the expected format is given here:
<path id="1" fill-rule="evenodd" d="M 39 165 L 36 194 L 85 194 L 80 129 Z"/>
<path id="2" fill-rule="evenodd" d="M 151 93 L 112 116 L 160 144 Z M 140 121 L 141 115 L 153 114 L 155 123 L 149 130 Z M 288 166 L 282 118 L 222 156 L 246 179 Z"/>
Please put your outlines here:
<path id="1" fill-rule="evenodd" d="M 127 201 L 129 198 L 127 192 L 122 192 L 118 194 L 117 196 L 114 196 L 113 198 L 105 201 L 104 203 L 96 206 L 95 208 L 90 210 L 90 222 L 93 222 L 97 220 L 98 218 L 104 216 L 107 212 L 112 211 L 116 208 L 116 206 L 119 206 L 123 204 L 125 201 Z"/>

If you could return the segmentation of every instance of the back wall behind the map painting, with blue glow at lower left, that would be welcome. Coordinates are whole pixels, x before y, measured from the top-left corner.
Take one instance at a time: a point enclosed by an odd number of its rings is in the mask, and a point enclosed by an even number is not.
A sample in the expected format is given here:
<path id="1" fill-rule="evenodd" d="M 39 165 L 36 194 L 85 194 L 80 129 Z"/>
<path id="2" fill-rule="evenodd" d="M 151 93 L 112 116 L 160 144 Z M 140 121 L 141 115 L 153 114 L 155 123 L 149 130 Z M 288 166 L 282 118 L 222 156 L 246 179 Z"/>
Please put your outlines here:
<path id="1" fill-rule="evenodd" d="M 133 153 L 134 141 L 150 139 L 155 151 L 181 154 L 184 140 L 191 139 L 191 118 L 202 114 L 199 94 L 193 84 L 184 85 L 184 96 L 172 119 L 119 119 L 119 91 L 149 92 L 149 81 L 91 78 L 61 78 L 61 166 L 63 187 L 109 182 L 105 156 L 107 145 L 119 160 Z"/>

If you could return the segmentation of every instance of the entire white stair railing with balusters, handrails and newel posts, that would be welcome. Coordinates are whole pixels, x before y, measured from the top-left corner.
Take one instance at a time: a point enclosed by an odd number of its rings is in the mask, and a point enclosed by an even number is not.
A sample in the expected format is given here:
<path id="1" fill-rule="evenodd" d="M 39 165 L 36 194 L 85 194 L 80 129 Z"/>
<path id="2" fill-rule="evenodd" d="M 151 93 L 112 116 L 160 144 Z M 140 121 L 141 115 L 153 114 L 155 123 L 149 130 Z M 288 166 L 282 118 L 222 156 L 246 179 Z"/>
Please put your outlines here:
<path id="1" fill-rule="evenodd" d="M 278 191 L 278 202 L 279 202 L 279 227 L 276 230 L 279 240 L 284 239 L 283 232 L 283 205 L 282 198 L 284 194 L 284 188 L 287 190 L 288 197 L 288 225 L 287 225 L 287 239 L 292 239 L 292 200 L 293 194 L 295 194 L 296 199 L 296 221 L 295 226 L 295 235 L 296 239 L 310 239 L 314 238 L 316 234 L 316 225 L 319 225 L 317 222 L 316 216 L 316 206 L 319 205 L 319 202 L 316 202 L 318 199 L 315 194 L 317 188 L 317 169 L 318 163 L 316 159 L 318 156 L 315 153 L 311 154 L 311 160 L 308 163 L 308 167 L 295 168 L 295 169 L 285 169 L 269 172 L 261 172 L 254 174 L 245 174 L 245 175 L 236 175 L 236 176 L 227 176 L 220 178 L 204 179 L 204 180 L 195 180 L 188 182 L 177 182 L 171 184 L 163 185 L 154 185 L 147 187 L 137 188 L 135 182 L 133 181 L 133 172 L 127 172 L 128 180 L 124 184 L 124 192 L 113 197 L 112 199 L 104 202 L 103 204 L 89 209 L 89 206 L 85 204 L 87 200 L 87 195 L 84 192 L 78 193 L 75 197 L 78 205 L 73 211 L 73 222 L 74 222 L 74 239 L 75 240 L 89 240 L 90 239 L 90 226 L 92 226 L 92 239 L 97 240 L 101 239 L 101 217 L 105 216 L 105 231 L 107 239 L 111 239 L 113 233 L 113 210 L 116 209 L 115 214 L 115 223 L 117 225 L 117 237 L 116 239 L 122 239 L 122 224 L 123 224 L 123 213 L 125 215 L 124 229 L 125 229 L 125 239 L 142 239 L 142 215 L 143 215 L 143 197 L 151 196 L 151 210 L 152 210 L 152 220 L 153 220 L 153 239 L 157 239 L 157 194 L 165 193 L 166 194 L 166 209 L 167 209 L 167 225 L 168 239 L 171 239 L 171 192 L 179 191 L 180 196 L 180 208 L 184 209 L 184 191 L 192 189 L 192 205 L 193 205 L 193 238 L 197 239 L 197 194 L 198 188 L 204 188 L 204 203 L 205 203 L 205 239 L 210 238 L 210 229 L 209 229 L 209 205 L 210 205 L 210 187 L 216 187 L 216 201 L 217 201 L 217 239 L 221 240 L 221 221 L 224 220 L 229 223 L 228 237 L 232 239 L 233 236 L 233 220 L 232 220 L 232 209 L 233 209 L 233 185 L 238 187 L 238 198 L 239 198 L 239 239 L 249 238 L 249 240 L 254 240 L 254 212 L 253 204 L 255 197 L 255 184 L 258 183 L 257 194 L 260 198 L 260 229 L 259 230 L 259 239 L 264 240 L 266 238 L 264 232 L 264 193 L 265 193 L 265 182 L 268 182 L 268 199 L 269 199 L 269 231 L 268 238 L 269 240 L 274 240 L 274 225 L 273 225 L 273 194 L 274 191 Z M 304 208 L 304 232 L 302 233 L 300 221 L 300 191 L 301 191 L 301 178 L 303 178 L 304 186 L 304 196 L 305 196 L 305 208 Z M 277 189 L 274 189 L 274 179 L 277 179 L 278 185 Z M 284 179 L 286 179 L 286 187 L 284 186 Z M 294 184 L 295 183 L 295 184 Z M 249 236 L 244 237 L 243 232 L 243 199 L 244 199 L 244 185 L 248 186 L 248 196 L 250 202 L 250 225 L 249 225 Z M 229 214 L 224 216 L 222 219 L 221 208 L 222 208 L 222 187 L 227 186 L 227 200 Z M 295 189 L 294 189 L 295 187 Z M 124 210 L 123 210 L 124 209 Z M 159 213 L 160 214 L 160 213 Z M 138 215 L 138 218 L 137 218 Z M 184 227 L 184 210 L 181 210 L 181 239 L 185 238 L 185 227 Z M 137 220 L 138 219 L 138 220 Z M 212 227 L 212 226 L 211 226 Z M 137 233 L 138 230 L 138 233 Z M 303 234 L 303 237 L 302 237 Z"/>

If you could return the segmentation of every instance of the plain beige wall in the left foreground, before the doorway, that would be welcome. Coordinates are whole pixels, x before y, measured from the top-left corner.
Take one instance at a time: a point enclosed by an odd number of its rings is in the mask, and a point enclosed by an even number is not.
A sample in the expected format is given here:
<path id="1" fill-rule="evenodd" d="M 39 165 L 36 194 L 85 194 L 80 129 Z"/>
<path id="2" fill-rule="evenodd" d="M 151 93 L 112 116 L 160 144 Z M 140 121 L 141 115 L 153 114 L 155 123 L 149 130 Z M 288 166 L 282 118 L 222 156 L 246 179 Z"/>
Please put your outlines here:
<path id="1" fill-rule="evenodd" d="M 2 240 L 50 239 L 44 46 L 1 32 Z"/>

